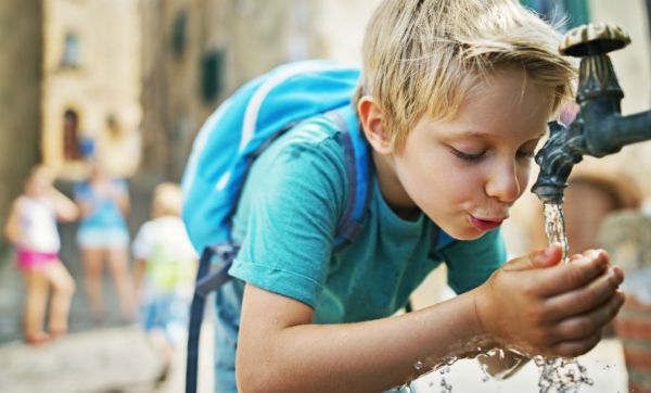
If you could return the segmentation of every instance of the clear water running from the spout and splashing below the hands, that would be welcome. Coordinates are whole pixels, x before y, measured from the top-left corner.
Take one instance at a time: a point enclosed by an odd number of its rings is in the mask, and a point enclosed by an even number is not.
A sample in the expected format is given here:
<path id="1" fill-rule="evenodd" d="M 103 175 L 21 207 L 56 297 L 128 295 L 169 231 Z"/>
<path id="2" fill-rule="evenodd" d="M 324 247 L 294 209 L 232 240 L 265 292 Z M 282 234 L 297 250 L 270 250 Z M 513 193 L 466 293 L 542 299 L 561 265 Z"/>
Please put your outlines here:
<path id="1" fill-rule="evenodd" d="M 563 262 L 569 263 L 567 236 L 565 234 L 565 218 L 563 208 L 557 203 L 545 204 L 545 231 L 549 243 L 560 243 L 563 250 Z M 587 369 L 576 359 L 534 357 L 534 363 L 540 369 L 538 386 L 540 393 L 576 393 L 584 385 L 592 385 Z"/>

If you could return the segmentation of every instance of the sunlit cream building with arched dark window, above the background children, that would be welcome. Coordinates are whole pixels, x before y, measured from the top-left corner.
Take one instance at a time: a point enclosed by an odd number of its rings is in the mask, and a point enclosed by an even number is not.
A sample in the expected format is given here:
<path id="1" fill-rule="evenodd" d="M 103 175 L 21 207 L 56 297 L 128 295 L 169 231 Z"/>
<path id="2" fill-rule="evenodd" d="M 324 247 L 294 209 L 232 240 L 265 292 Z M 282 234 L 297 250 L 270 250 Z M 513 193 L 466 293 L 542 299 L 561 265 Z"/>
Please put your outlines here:
<path id="1" fill-rule="evenodd" d="M 140 18 L 132 0 L 43 1 L 42 153 L 62 177 L 89 154 L 114 175 L 140 161 Z"/>

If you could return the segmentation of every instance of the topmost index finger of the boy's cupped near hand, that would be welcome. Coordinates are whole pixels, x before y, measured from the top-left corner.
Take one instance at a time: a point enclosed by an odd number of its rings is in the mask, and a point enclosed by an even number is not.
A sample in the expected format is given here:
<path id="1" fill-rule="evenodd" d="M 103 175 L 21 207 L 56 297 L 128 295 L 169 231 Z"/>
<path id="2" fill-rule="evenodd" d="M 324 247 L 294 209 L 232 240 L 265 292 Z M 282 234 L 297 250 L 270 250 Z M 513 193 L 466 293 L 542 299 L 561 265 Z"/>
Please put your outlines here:
<path id="1" fill-rule="evenodd" d="M 591 251 L 570 264 L 540 270 L 536 282 L 541 294 L 553 296 L 587 286 L 608 268 L 610 257 L 603 250 Z"/>

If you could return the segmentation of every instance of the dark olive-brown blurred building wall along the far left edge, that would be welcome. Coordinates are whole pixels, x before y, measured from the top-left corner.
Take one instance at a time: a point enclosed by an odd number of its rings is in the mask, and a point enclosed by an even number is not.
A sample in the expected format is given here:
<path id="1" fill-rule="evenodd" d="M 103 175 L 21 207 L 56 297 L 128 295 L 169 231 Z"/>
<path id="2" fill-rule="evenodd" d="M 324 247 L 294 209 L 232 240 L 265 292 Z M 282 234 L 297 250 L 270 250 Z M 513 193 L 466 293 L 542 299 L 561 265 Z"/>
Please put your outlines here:
<path id="1" fill-rule="evenodd" d="M 0 224 L 39 160 L 41 25 L 40 0 L 0 1 Z"/>

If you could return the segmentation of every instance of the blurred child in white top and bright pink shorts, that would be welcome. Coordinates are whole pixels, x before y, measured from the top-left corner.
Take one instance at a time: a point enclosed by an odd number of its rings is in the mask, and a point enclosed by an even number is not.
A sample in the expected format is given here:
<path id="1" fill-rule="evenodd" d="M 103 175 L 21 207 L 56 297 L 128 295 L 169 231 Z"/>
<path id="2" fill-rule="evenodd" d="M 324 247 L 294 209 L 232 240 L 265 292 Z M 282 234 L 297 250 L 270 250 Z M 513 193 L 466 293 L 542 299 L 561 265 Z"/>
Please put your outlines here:
<path id="1" fill-rule="evenodd" d="M 4 234 L 16 250 L 16 263 L 25 279 L 25 341 L 39 344 L 67 332 L 67 319 L 75 282 L 59 258 L 61 240 L 56 220 L 72 221 L 79 215 L 77 206 L 53 186 L 50 169 L 38 165 L 25 181 L 25 190 L 10 212 Z M 48 292 L 52 288 L 49 332 L 43 319 Z"/>

